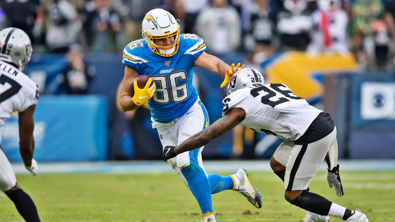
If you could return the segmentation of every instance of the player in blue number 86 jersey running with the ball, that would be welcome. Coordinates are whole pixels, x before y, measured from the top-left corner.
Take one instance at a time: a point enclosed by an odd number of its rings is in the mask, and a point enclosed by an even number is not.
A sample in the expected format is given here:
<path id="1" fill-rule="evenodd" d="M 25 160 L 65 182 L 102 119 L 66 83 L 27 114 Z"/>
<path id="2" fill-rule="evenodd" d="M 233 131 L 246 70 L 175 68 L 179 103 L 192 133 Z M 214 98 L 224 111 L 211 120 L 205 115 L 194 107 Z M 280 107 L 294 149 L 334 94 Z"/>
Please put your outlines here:
<path id="1" fill-rule="evenodd" d="M 221 88 L 239 69 L 205 53 L 204 41 L 194 34 L 180 34 L 177 20 L 164 9 L 149 11 L 142 23 L 143 38 L 132 41 L 123 51 L 125 74 L 120 92 L 122 111 L 137 109 L 147 102 L 152 128 L 158 130 L 162 146 L 176 146 L 209 126 L 209 116 L 192 85 L 192 74 L 199 66 L 224 77 Z M 240 68 L 243 68 L 241 66 Z M 129 86 L 137 75 L 150 75 L 143 88 L 134 81 L 134 96 Z M 152 81 L 155 83 L 152 86 Z M 261 195 L 248 181 L 245 169 L 233 175 L 207 175 L 202 159 L 203 147 L 168 160 L 199 203 L 204 222 L 215 222 L 211 194 L 236 190 L 256 208 Z"/>

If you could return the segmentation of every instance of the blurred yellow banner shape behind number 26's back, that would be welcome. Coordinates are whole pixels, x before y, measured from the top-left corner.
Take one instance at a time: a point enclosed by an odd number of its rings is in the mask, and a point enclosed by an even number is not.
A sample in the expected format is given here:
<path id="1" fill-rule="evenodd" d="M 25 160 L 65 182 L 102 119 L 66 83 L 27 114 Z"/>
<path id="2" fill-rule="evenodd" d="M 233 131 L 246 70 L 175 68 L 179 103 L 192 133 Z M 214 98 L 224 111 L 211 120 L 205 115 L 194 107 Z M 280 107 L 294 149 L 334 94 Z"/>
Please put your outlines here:
<path id="1" fill-rule="evenodd" d="M 279 53 L 263 64 L 267 83 L 284 83 L 297 96 L 307 101 L 322 96 L 323 84 L 314 74 L 330 75 L 357 70 L 352 53 L 309 55 L 305 52 L 290 51 Z"/>

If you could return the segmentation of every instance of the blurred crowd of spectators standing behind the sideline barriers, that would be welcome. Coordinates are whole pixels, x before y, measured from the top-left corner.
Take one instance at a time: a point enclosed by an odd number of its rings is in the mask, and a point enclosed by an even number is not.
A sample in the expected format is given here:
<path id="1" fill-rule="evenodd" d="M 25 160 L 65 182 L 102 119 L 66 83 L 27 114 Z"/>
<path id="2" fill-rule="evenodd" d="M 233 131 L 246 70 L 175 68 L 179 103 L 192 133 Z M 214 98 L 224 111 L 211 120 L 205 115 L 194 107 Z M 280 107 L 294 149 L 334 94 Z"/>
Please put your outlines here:
<path id="1" fill-rule="evenodd" d="M 179 19 L 207 51 L 248 53 L 260 64 L 279 51 L 355 55 L 361 71 L 393 71 L 393 0 L 1 0 L 1 26 L 30 36 L 34 53 L 117 52 L 141 38 L 150 9 Z M 74 48 L 75 49 L 75 48 Z"/>

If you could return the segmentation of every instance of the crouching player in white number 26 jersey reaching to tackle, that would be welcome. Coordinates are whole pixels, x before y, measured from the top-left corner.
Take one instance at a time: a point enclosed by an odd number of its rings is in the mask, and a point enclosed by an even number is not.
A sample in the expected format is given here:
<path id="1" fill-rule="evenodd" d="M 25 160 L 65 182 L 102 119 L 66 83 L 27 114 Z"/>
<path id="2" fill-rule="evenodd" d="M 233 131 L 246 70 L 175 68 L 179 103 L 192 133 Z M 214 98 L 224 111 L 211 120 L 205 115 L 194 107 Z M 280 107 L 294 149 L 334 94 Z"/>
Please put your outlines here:
<path id="1" fill-rule="evenodd" d="M 236 71 L 223 100 L 223 117 L 181 144 L 164 149 L 164 160 L 201 147 L 237 124 L 276 135 L 284 142 L 271 158 L 271 167 L 284 181 L 285 199 L 308 211 L 305 221 L 326 222 L 329 216 L 346 222 L 368 222 L 360 211 L 346 209 L 308 190 L 327 156 L 329 186 L 343 195 L 337 164 L 336 127 L 328 113 L 309 105 L 284 84 L 264 83 L 253 69 Z"/>

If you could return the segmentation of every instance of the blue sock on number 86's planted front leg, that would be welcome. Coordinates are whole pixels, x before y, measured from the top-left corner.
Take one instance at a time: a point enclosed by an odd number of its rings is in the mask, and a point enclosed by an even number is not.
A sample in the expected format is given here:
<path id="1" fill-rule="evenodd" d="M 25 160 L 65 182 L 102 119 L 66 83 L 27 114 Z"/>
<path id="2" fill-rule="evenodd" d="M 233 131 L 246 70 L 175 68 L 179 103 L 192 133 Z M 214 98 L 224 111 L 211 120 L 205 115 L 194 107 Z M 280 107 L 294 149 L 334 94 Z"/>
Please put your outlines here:
<path id="1" fill-rule="evenodd" d="M 213 204 L 211 203 L 210 184 L 206 173 L 199 164 L 192 164 L 181 169 L 192 194 L 199 203 L 202 214 L 213 212 Z"/>

